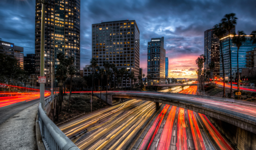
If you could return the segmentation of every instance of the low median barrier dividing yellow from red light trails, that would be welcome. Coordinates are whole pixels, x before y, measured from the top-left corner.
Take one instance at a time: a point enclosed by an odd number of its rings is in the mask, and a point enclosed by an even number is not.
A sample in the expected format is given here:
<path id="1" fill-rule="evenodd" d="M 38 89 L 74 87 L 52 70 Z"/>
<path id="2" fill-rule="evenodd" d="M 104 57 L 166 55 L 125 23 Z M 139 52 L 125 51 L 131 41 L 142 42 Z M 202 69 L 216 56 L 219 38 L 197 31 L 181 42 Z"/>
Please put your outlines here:
<path id="1" fill-rule="evenodd" d="M 140 138 L 140 136 L 142 135 L 142 133 L 144 132 L 148 124 L 152 121 L 154 116 L 159 112 L 161 107 L 162 107 L 162 104 L 161 106 L 159 106 L 159 109 L 156 110 L 155 113 L 151 115 L 150 119 L 141 127 L 141 129 L 137 132 L 137 134 L 132 138 L 131 142 L 128 145 L 126 145 L 126 148 L 124 150 L 131 150 L 133 148 L 138 138 Z"/>

